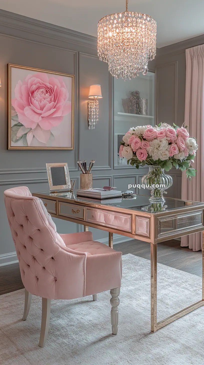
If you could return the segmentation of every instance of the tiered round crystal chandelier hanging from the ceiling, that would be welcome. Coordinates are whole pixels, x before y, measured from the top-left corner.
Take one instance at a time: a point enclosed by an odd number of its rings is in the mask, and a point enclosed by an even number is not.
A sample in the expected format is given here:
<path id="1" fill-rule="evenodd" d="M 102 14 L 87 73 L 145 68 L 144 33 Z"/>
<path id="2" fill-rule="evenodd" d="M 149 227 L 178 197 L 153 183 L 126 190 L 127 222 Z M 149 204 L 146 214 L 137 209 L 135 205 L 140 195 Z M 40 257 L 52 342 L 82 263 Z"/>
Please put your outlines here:
<path id="1" fill-rule="evenodd" d="M 157 23 L 149 15 L 129 12 L 104 16 L 98 22 L 98 56 L 109 72 L 124 80 L 146 75 L 156 55 Z"/>

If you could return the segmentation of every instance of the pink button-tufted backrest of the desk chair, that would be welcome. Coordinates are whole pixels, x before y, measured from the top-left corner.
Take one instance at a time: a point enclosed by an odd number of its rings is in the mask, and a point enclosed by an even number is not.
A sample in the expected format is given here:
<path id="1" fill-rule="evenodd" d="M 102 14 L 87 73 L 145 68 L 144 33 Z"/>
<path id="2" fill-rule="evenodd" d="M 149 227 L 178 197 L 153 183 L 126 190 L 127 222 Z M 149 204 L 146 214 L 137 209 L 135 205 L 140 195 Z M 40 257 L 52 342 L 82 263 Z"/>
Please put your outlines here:
<path id="1" fill-rule="evenodd" d="M 27 187 L 6 190 L 4 200 L 27 291 L 50 299 L 83 296 L 86 253 L 66 247 L 43 202 Z"/>

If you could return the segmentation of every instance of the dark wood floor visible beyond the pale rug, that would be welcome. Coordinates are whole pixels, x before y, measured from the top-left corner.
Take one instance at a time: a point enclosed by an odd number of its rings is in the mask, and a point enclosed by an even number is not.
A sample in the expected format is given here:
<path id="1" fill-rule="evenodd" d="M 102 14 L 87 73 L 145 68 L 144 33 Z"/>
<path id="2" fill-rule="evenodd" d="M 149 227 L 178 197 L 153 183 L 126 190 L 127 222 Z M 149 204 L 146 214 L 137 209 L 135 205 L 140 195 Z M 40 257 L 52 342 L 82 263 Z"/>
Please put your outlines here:
<path id="1" fill-rule="evenodd" d="M 128 241 L 114 245 L 114 250 L 122 254 L 131 253 L 150 260 L 150 244 L 138 241 Z M 202 276 L 202 253 L 193 252 L 180 246 L 176 240 L 158 244 L 158 258 L 160 264 L 171 266 L 198 276 Z M 23 288 L 20 277 L 19 264 L 0 267 L 0 295 Z"/>

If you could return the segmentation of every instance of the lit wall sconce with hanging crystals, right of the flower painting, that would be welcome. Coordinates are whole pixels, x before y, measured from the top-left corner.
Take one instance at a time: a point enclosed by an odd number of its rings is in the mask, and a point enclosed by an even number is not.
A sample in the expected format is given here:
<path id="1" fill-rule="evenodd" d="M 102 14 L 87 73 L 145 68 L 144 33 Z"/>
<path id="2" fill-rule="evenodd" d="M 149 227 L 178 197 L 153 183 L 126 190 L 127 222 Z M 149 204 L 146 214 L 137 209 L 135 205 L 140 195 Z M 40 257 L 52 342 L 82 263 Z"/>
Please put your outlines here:
<path id="1" fill-rule="evenodd" d="M 91 85 L 89 89 L 89 98 L 94 101 L 88 101 L 88 122 L 89 129 L 94 129 L 98 122 L 98 99 L 102 98 L 101 85 Z"/>

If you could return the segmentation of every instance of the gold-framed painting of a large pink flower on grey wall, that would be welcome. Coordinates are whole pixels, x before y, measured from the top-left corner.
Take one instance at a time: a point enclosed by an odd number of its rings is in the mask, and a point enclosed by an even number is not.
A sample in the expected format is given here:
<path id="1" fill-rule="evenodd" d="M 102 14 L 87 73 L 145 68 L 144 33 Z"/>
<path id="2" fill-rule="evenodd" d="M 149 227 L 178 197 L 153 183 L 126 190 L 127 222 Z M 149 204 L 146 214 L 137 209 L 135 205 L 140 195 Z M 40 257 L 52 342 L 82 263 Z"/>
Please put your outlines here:
<path id="1" fill-rule="evenodd" d="M 8 149 L 74 149 L 74 76 L 8 64 Z"/>

